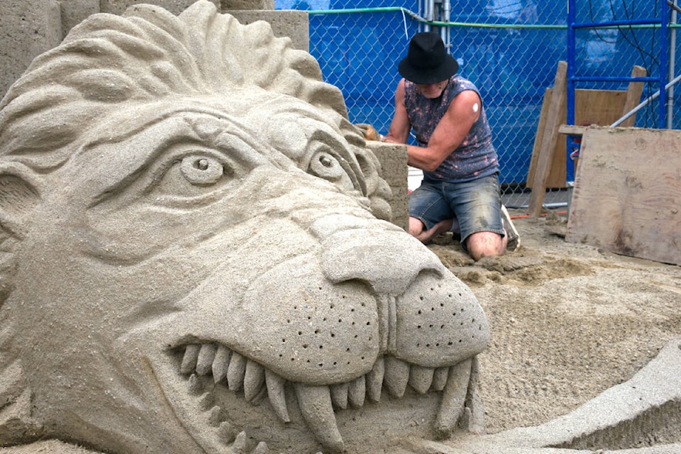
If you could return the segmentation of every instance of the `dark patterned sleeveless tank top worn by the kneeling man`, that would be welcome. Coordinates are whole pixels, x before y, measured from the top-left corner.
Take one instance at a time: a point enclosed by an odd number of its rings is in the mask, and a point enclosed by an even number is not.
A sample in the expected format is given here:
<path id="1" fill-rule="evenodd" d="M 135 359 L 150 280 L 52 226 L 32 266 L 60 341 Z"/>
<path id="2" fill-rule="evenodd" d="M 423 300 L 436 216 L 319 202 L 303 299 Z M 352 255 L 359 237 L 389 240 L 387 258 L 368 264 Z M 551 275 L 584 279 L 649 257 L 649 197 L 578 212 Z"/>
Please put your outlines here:
<path id="1" fill-rule="evenodd" d="M 465 90 L 473 90 L 480 96 L 475 84 L 459 74 L 450 77 L 442 95 L 436 99 L 426 98 L 416 91 L 414 82 L 404 81 L 404 106 L 420 146 L 424 147 L 428 144 L 431 134 L 445 115 L 449 104 L 455 96 Z M 485 109 L 481 108 L 480 117 L 473 123 L 459 147 L 436 170 L 423 171 L 423 179 L 467 182 L 494 175 L 497 172 L 499 172 L 499 160 L 497 150 L 492 145 L 492 130 L 487 123 Z"/>

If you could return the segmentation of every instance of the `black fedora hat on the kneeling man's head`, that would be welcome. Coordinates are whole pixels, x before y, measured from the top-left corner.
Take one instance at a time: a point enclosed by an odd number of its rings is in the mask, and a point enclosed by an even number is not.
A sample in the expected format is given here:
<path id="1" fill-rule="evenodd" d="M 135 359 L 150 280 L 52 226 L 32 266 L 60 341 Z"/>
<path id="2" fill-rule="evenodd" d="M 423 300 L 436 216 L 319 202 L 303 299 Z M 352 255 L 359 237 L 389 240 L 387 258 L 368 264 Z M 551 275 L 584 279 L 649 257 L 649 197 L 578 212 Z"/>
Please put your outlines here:
<path id="1" fill-rule="evenodd" d="M 445 51 L 440 35 L 416 33 L 409 41 L 409 52 L 399 62 L 402 77 L 416 84 L 435 84 L 449 79 L 459 70 L 455 58 Z"/>

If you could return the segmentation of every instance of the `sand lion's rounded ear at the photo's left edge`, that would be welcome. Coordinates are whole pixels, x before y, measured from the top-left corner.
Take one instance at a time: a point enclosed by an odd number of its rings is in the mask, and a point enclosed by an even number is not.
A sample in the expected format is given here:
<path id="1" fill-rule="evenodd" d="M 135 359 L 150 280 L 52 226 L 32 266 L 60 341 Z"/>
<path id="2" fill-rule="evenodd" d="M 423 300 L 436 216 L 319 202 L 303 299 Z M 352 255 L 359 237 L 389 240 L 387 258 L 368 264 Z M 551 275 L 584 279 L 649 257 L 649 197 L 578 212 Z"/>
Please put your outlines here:
<path id="1" fill-rule="evenodd" d="M 0 231 L 22 238 L 27 218 L 40 203 L 33 171 L 21 164 L 0 165 Z"/>

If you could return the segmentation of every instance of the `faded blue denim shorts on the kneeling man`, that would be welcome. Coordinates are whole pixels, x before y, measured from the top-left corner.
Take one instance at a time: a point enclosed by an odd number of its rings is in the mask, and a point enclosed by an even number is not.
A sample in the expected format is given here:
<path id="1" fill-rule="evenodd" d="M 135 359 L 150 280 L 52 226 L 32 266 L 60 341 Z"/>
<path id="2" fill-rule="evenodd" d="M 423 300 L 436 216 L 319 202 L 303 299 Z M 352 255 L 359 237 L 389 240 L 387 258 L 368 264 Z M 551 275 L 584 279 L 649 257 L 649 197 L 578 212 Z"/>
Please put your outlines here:
<path id="1" fill-rule="evenodd" d="M 421 220 L 426 230 L 440 221 L 456 218 L 462 245 L 472 233 L 504 235 L 501 207 L 498 174 L 465 183 L 424 179 L 409 194 L 409 216 Z"/>

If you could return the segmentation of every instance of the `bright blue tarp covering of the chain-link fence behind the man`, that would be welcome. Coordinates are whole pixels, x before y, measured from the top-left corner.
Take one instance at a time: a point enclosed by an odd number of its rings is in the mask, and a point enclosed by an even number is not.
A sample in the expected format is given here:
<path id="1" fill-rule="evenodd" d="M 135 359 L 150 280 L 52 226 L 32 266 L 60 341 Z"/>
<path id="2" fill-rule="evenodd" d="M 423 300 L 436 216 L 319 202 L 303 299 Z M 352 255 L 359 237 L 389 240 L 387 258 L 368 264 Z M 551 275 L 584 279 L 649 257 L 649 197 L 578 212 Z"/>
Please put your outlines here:
<path id="1" fill-rule="evenodd" d="M 663 0 L 577 0 L 578 22 L 659 17 Z M 287 3 L 288 2 L 288 3 Z M 416 1 L 386 6 L 380 0 L 277 0 L 277 9 L 310 11 L 310 52 L 326 82 L 339 87 L 350 121 L 372 123 L 386 133 L 394 111 L 397 62 L 417 31 L 448 28 L 449 52 L 460 74 L 480 89 L 499 153 L 507 204 L 525 187 L 546 88 L 560 60 L 567 60 L 566 2 L 533 0 L 450 0 L 437 11 Z M 443 7 L 447 21 L 443 17 Z M 430 21 L 425 21 L 429 16 Z M 445 18 L 447 17 L 445 16 Z M 675 28 L 669 28 L 674 44 Z M 582 76 L 629 77 L 641 65 L 659 77 L 660 39 L 653 26 L 577 30 L 575 72 Z M 673 60 L 672 60 L 673 62 Z M 628 82 L 582 82 L 577 88 L 626 89 Z M 660 87 L 646 83 L 643 99 Z M 675 96 L 676 99 L 679 96 Z M 671 117 L 680 126 L 678 101 Z M 657 104 L 638 112 L 636 126 L 655 128 Z M 568 158 L 566 157 L 566 165 Z"/>

